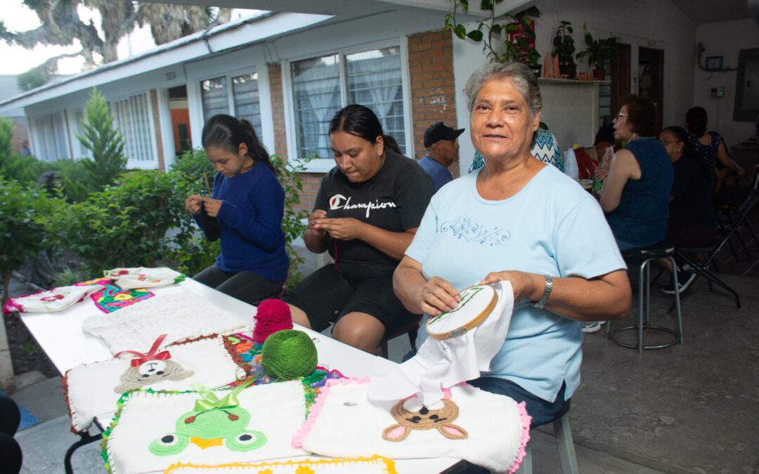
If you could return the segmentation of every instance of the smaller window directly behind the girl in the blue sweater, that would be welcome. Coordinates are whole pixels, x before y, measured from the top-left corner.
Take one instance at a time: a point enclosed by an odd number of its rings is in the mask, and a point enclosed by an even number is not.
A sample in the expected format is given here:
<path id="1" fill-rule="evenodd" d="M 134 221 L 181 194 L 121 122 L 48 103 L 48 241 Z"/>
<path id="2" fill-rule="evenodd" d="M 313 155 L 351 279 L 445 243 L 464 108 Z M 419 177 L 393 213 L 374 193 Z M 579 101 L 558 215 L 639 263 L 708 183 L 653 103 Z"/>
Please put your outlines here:
<path id="1" fill-rule="evenodd" d="M 231 97 L 228 90 L 231 89 Z M 258 96 L 258 73 L 229 75 L 200 81 L 203 121 L 216 114 L 247 118 L 261 139 L 261 105 Z"/>

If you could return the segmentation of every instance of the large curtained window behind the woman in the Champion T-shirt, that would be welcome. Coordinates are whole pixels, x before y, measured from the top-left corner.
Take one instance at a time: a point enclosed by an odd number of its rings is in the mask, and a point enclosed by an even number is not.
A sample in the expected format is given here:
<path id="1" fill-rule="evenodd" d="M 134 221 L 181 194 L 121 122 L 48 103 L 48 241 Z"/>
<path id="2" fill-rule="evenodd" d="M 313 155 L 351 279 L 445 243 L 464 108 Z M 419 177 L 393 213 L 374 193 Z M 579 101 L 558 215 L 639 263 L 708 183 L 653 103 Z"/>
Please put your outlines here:
<path id="1" fill-rule="evenodd" d="M 371 108 L 385 133 L 405 149 L 401 52 L 398 46 L 338 53 L 291 63 L 298 156 L 329 158 L 329 121 L 348 104 Z"/>

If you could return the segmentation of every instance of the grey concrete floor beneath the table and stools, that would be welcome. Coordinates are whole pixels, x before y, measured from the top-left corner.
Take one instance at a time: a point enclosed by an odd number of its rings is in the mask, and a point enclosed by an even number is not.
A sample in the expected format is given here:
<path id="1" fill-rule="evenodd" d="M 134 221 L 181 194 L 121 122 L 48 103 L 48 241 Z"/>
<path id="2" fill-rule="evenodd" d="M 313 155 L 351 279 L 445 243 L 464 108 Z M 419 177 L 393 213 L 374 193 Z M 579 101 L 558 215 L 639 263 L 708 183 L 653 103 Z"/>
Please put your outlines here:
<path id="1" fill-rule="evenodd" d="M 759 279 L 725 279 L 741 295 L 742 309 L 723 290 L 710 293 L 697 281 L 682 302 L 683 346 L 639 355 L 603 330 L 586 334 L 582 383 L 569 413 L 580 472 L 759 472 Z M 674 327 L 666 315 L 671 298 L 653 287 L 653 324 Z M 635 317 L 633 309 L 612 327 Z M 399 362 L 408 348 L 407 337 L 390 341 L 390 358 Z M 16 435 L 21 472 L 64 472 L 65 451 L 77 437 L 69 432 L 60 379 L 43 378 L 11 396 L 42 422 Z M 531 436 L 534 472 L 561 472 L 553 428 Z M 77 450 L 73 466 L 77 474 L 102 472 L 99 445 Z"/>

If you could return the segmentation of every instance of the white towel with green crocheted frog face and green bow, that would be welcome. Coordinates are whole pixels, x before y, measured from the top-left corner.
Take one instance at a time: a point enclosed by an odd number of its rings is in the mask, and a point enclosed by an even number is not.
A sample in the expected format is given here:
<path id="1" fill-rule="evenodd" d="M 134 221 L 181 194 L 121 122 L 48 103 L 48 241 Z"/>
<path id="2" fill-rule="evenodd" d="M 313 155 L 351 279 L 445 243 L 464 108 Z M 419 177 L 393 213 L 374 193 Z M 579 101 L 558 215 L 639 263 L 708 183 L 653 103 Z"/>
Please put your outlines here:
<path id="1" fill-rule="evenodd" d="M 232 405 L 225 400 L 231 392 L 211 391 L 219 402 L 214 408 L 198 407 L 198 392 L 124 394 L 115 426 L 103 435 L 106 468 L 136 474 L 176 463 L 215 466 L 307 454 L 291 444 L 306 416 L 300 381 L 244 388 Z"/>

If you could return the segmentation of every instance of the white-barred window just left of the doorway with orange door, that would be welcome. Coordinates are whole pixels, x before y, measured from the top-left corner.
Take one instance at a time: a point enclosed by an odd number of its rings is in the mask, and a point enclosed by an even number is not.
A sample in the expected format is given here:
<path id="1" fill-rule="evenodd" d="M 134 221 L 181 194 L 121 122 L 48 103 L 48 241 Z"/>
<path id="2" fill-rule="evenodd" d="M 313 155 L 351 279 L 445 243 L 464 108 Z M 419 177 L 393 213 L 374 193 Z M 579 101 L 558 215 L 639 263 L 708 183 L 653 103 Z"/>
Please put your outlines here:
<path id="1" fill-rule="evenodd" d="M 111 110 L 124 137 L 124 155 L 131 162 L 155 161 L 150 135 L 150 99 L 147 93 L 112 102 Z"/>

